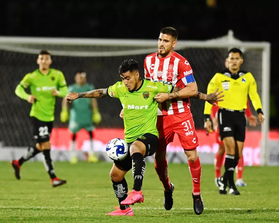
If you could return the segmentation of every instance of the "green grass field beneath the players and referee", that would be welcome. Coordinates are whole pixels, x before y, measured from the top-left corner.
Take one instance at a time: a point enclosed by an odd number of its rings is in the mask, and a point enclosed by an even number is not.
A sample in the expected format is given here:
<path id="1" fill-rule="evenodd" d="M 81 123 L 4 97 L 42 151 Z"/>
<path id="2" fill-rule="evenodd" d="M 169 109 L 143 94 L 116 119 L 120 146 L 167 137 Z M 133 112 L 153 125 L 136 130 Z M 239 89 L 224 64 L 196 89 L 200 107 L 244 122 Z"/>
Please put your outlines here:
<path id="1" fill-rule="evenodd" d="M 279 222 L 278 167 L 246 167 L 247 187 L 240 196 L 219 195 L 214 169 L 202 166 L 202 198 L 205 209 L 192 209 L 192 180 L 187 164 L 169 164 L 175 185 L 174 206 L 163 207 L 163 186 L 147 164 L 143 180 L 144 203 L 132 206 L 135 216 L 105 216 L 118 201 L 109 177 L 110 163 L 56 162 L 56 174 L 67 184 L 52 188 L 40 162 L 27 162 L 21 180 L 8 162 L 0 162 L 0 222 Z M 126 175 L 132 187 L 132 172 Z"/>

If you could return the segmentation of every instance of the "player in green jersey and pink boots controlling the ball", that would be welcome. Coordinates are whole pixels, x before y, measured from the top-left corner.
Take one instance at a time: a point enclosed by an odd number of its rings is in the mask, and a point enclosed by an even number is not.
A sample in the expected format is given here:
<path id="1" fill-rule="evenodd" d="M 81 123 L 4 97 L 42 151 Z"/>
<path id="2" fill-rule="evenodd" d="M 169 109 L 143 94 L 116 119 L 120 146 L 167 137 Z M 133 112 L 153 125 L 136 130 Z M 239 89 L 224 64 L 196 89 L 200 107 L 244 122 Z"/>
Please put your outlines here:
<path id="1" fill-rule="evenodd" d="M 158 144 L 159 133 L 156 127 L 158 103 L 154 97 L 159 93 L 168 93 L 169 96 L 173 96 L 171 92 L 180 92 L 181 97 L 191 95 L 186 95 L 185 90 L 181 90 L 181 88 L 141 79 L 138 63 L 134 60 L 122 62 L 118 71 L 122 82 L 117 82 L 105 89 L 70 93 L 66 99 L 71 102 L 77 98 L 110 96 L 120 100 L 124 110 L 125 141 L 128 143 L 130 154 L 122 161 L 114 161 L 110 171 L 113 189 L 120 207 L 108 215 L 134 215 L 129 205 L 136 202 L 141 203 L 144 200 L 141 192 L 145 172 L 144 158 L 153 155 Z M 196 98 L 201 98 L 200 94 L 198 92 Z M 176 95 L 179 96 L 179 94 Z M 213 100 L 216 101 L 216 97 Z M 134 187 L 127 195 L 128 185 L 124 176 L 130 169 L 133 172 Z"/>

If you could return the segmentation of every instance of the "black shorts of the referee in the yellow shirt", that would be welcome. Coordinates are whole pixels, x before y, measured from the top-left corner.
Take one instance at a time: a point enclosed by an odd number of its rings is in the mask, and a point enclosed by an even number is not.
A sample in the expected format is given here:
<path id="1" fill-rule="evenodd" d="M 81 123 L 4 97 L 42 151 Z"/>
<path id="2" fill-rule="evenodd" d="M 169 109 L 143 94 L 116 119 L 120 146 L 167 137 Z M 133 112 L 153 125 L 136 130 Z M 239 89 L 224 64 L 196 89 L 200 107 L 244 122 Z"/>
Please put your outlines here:
<path id="1" fill-rule="evenodd" d="M 218 125 L 221 140 L 233 137 L 236 141 L 244 142 L 246 131 L 245 111 L 218 110 Z"/>

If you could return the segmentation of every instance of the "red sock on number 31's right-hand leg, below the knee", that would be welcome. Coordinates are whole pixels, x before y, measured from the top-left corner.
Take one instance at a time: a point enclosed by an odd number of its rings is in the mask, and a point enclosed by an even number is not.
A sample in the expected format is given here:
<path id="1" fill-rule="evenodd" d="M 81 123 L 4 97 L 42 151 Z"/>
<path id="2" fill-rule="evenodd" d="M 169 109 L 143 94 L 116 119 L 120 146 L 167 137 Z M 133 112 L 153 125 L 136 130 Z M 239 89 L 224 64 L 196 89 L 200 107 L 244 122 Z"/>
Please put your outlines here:
<path id="1" fill-rule="evenodd" d="M 200 158 L 195 162 L 191 162 L 188 160 L 189 170 L 192 176 L 193 182 L 193 194 L 197 195 L 200 193 L 200 178 L 202 174 L 202 166 L 200 165 Z"/>

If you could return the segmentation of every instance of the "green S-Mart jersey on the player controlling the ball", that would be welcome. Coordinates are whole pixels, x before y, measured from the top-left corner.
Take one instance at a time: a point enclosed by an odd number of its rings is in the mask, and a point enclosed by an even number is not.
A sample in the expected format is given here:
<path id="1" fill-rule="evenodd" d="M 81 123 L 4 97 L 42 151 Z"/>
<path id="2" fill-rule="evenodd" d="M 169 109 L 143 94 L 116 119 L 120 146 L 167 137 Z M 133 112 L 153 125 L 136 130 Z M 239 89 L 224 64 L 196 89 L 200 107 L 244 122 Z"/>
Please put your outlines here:
<path id="1" fill-rule="evenodd" d="M 127 143 L 145 133 L 159 137 L 156 127 L 158 102 L 154 97 L 157 93 L 170 93 L 172 89 L 171 85 L 149 80 L 142 80 L 141 86 L 134 92 L 129 92 L 123 82 L 117 82 L 108 88 L 108 95 L 121 101 Z"/>

